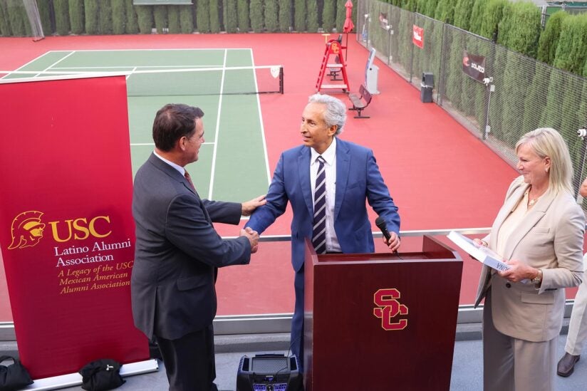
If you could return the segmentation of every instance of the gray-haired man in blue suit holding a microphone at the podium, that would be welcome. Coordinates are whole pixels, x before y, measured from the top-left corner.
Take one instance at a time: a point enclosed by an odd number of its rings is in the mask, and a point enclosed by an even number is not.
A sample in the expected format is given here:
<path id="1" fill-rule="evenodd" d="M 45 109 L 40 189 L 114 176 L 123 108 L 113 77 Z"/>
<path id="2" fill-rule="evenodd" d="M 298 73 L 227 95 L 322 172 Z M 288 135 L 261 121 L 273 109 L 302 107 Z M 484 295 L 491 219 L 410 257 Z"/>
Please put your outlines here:
<path id="1" fill-rule="evenodd" d="M 346 105 L 341 100 L 330 95 L 311 95 L 301 118 L 303 145 L 281 154 L 266 204 L 256 209 L 246 224 L 261 234 L 285 212 L 288 202 L 294 210 L 291 264 L 296 272 L 296 306 L 291 320 L 291 351 L 302 367 L 305 239 L 313 239 L 318 254 L 375 251 L 366 199 L 387 224 L 391 237 L 385 243 L 389 249 L 395 251 L 400 246 L 398 207 L 383 182 L 373 151 L 336 137 L 343 131 L 345 121 Z M 326 192 L 323 192 L 324 177 Z M 318 199 L 317 208 L 314 207 L 315 198 Z M 324 207 L 326 224 L 323 224 L 323 217 L 319 217 Z M 326 246 L 323 239 L 326 239 Z"/>

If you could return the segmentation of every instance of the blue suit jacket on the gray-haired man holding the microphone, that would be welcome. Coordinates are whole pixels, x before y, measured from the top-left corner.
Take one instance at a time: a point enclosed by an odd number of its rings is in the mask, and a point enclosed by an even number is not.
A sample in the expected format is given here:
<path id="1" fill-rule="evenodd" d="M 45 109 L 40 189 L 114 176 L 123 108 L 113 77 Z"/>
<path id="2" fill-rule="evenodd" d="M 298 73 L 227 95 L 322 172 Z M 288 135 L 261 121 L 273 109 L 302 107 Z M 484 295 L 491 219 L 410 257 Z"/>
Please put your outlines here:
<path id="1" fill-rule="evenodd" d="M 246 224 L 261 234 L 291 202 L 291 263 L 303 265 L 303 245 L 312 236 L 313 204 L 310 184 L 310 148 L 299 146 L 281 154 L 267 192 L 267 203 Z M 375 251 L 365 199 L 385 219 L 389 231 L 400 231 L 398 207 L 383 182 L 373 151 L 336 139 L 336 195 L 334 229 L 343 253 Z"/>

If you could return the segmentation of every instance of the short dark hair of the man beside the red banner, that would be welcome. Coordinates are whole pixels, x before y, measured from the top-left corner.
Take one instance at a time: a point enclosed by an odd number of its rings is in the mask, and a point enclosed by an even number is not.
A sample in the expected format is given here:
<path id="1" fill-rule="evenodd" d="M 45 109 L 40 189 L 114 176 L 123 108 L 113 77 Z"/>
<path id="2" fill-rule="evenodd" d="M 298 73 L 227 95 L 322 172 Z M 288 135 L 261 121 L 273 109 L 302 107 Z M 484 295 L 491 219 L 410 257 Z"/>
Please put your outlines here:
<path id="1" fill-rule="evenodd" d="M 153 122 L 153 141 L 158 150 L 169 152 L 177 140 L 182 137 L 191 137 L 196 129 L 196 118 L 204 117 L 200 108 L 170 103 L 163 106 Z"/>

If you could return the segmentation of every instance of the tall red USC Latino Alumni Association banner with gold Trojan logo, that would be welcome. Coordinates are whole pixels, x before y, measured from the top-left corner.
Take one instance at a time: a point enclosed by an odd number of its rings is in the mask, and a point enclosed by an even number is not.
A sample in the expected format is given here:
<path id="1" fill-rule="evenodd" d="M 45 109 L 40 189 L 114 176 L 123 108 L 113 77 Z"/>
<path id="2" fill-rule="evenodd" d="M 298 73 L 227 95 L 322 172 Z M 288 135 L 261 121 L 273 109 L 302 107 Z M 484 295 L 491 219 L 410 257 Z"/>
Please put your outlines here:
<path id="1" fill-rule="evenodd" d="M 124 76 L 1 83 L 0 246 L 34 379 L 145 360 L 133 325 Z"/>

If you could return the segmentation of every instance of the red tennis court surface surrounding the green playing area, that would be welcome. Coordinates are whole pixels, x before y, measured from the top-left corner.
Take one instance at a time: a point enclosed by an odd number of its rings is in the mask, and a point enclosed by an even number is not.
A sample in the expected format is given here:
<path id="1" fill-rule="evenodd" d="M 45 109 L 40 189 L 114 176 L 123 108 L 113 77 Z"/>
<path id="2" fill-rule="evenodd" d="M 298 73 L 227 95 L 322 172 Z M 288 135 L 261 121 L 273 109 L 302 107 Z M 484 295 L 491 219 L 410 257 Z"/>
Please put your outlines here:
<path id="1" fill-rule="evenodd" d="M 284 65 L 285 94 L 261 95 L 271 172 L 282 150 L 301 143 L 301 111 L 308 95 L 315 92 L 325 49 L 321 34 L 67 36 L 38 42 L 31 38 L 0 38 L 0 51 L 4 53 L 0 69 L 15 70 L 51 50 L 137 48 L 253 48 L 256 65 Z M 357 91 L 364 80 L 367 56 L 368 51 L 355 41 L 355 36 L 349 36 L 347 72 L 351 91 Z M 379 67 L 380 94 L 373 96 L 363 112 L 370 118 L 355 119 L 354 112 L 349 112 L 341 138 L 375 152 L 385 182 L 400 208 L 402 231 L 490 226 L 516 171 L 442 108 L 435 103 L 421 103 L 420 92 L 385 64 L 378 60 L 375 64 Z M 345 94 L 335 92 L 333 95 L 348 103 Z M 375 214 L 371 217 L 375 221 Z M 288 211 L 265 234 L 289 234 L 290 222 Z M 221 225 L 218 229 L 225 236 L 238 232 L 234 226 Z M 377 230 L 374 223 L 373 230 Z M 376 242 L 378 251 L 385 251 L 380 239 Z M 400 253 L 418 251 L 420 242 L 405 238 Z M 460 303 L 471 304 L 480 265 L 462 256 Z M 249 266 L 219 272 L 218 314 L 291 313 L 293 275 L 289 242 L 261 244 Z M 574 296 L 574 292 L 569 290 L 568 296 Z M 0 266 L 0 321 L 3 320 L 11 320 L 11 313 L 4 268 Z"/>

